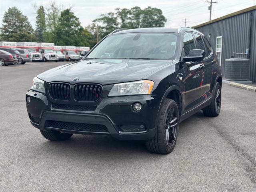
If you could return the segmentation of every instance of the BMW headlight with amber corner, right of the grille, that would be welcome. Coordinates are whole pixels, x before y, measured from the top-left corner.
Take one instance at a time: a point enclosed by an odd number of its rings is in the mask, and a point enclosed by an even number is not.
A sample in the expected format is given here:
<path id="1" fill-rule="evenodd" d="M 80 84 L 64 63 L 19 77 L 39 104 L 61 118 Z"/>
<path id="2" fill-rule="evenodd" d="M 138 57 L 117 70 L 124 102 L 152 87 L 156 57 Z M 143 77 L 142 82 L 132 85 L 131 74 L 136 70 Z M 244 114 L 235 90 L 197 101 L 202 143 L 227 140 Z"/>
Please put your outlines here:
<path id="1" fill-rule="evenodd" d="M 108 96 L 122 95 L 150 95 L 154 87 L 154 82 L 141 80 L 135 82 L 114 84 Z"/>

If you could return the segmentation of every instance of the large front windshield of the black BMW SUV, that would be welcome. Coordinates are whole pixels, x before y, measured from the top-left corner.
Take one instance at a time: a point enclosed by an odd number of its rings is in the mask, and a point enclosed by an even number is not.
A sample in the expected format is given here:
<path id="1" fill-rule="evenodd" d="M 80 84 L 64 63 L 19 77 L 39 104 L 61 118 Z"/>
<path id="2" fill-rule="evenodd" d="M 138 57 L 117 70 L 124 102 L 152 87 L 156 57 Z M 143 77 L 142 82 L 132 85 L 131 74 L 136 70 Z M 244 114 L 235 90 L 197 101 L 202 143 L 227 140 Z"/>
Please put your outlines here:
<path id="1" fill-rule="evenodd" d="M 169 60 L 176 52 L 175 33 L 129 33 L 106 37 L 86 58 Z"/>

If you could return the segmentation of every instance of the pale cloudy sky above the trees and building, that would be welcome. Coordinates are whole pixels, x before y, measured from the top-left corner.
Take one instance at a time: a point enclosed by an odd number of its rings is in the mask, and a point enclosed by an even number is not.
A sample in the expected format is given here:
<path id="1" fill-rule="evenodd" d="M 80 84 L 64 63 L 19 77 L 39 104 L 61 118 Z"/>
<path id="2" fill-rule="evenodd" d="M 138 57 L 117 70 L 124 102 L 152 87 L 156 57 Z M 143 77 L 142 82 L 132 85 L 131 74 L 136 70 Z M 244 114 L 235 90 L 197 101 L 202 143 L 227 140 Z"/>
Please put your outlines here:
<path id="1" fill-rule="evenodd" d="M 148 6 L 160 8 L 167 18 L 166 27 L 196 26 L 209 21 L 209 3 L 206 0 L 55 0 L 60 6 L 72 6 L 72 11 L 80 19 L 82 26 L 88 26 L 92 20 L 100 14 L 113 12 L 115 8 L 132 8 Z M 210 0 L 208 0 L 210 1 Z M 4 12 L 12 6 L 16 6 L 28 17 L 35 26 L 36 10 L 33 4 L 47 5 L 50 0 L 0 0 L 0 26 Z M 256 0 L 213 0 L 212 20 L 226 14 L 256 5 Z"/>

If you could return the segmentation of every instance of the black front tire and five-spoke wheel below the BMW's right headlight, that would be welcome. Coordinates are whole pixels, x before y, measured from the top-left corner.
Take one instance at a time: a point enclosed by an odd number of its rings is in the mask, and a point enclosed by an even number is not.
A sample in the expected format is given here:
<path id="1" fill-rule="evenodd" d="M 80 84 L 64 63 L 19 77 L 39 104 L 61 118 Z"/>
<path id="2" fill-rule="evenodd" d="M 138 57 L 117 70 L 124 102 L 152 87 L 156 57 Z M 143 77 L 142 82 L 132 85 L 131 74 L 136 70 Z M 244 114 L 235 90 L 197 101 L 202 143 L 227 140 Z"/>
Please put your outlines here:
<path id="1" fill-rule="evenodd" d="M 159 112 L 156 135 L 146 141 L 146 146 L 150 152 L 169 154 L 177 142 L 180 123 L 179 109 L 174 100 L 165 99 Z"/>

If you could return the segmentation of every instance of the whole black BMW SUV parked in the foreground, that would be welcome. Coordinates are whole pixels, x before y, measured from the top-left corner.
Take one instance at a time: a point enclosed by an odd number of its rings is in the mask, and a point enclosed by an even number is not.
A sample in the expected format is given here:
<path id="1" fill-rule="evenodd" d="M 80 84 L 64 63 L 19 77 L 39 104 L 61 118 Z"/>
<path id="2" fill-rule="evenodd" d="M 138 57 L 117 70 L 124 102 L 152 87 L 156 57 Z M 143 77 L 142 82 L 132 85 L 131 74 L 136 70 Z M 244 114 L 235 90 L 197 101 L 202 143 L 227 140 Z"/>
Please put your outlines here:
<path id="1" fill-rule="evenodd" d="M 107 134 L 145 140 L 168 154 L 179 124 L 218 116 L 222 76 L 204 35 L 192 28 L 118 29 L 82 60 L 36 76 L 26 94 L 31 124 L 48 140 Z"/>

